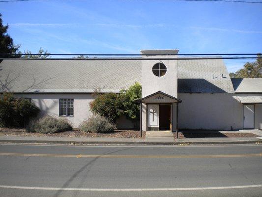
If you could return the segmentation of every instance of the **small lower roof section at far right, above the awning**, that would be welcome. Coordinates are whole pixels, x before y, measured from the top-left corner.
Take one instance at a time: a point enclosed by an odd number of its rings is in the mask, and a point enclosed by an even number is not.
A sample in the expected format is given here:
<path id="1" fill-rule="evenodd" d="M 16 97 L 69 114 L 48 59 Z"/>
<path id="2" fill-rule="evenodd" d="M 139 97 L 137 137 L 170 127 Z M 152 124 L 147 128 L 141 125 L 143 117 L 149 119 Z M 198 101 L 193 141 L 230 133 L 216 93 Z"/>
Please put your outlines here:
<path id="1" fill-rule="evenodd" d="M 262 93 L 262 78 L 232 78 L 236 93 Z"/>

